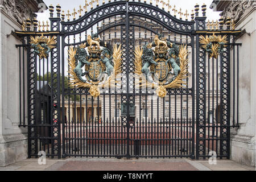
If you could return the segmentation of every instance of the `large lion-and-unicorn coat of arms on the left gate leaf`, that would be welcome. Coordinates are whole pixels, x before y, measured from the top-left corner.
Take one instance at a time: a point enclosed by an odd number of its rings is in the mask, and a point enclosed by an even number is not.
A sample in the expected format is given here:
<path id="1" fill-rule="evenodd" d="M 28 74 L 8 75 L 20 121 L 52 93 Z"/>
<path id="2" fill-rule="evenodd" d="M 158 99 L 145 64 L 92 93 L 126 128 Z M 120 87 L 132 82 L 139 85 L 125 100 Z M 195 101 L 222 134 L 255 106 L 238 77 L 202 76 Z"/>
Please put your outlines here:
<path id="1" fill-rule="evenodd" d="M 122 52 L 121 46 L 115 44 L 112 50 L 97 34 L 89 35 L 80 46 L 69 47 L 69 85 L 90 88 L 93 97 L 100 96 L 100 87 L 114 88 L 121 78 Z"/>

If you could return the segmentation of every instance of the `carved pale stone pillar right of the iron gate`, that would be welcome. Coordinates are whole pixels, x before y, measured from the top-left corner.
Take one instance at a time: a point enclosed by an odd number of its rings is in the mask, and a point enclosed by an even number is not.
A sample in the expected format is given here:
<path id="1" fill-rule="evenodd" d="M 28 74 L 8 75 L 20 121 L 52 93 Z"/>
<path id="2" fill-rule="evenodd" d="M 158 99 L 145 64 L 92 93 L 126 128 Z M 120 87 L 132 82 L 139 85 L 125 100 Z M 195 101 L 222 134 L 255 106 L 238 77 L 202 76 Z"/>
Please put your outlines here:
<path id="1" fill-rule="evenodd" d="M 215 11 L 222 11 L 224 19 L 229 16 L 235 20 L 236 30 L 242 30 L 236 40 L 236 43 L 242 43 L 239 55 L 240 127 L 231 130 L 231 159 L 247 166 L 255 166 L 256 1 L 214 1 L 213 4 Z"/>

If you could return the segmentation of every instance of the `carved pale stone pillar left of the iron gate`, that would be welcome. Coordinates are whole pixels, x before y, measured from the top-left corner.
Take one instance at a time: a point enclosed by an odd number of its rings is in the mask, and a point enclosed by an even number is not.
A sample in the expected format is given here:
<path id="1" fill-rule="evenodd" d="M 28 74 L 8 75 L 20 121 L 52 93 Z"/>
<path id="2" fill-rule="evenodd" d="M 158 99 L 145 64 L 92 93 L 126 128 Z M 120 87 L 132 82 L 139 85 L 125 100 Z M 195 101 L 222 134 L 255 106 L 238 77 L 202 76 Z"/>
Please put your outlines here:
<path id="1" fill-rule="evenodd" d="M 0 166 L 27 158 L 27 128 L 19 127 L 17 91 L 20 75 L 16 44 L 22 42 L 14 31 L 21 30 L 23 20 L 35 16 L 39 2 L 43 1 L 0 0 Z"/>

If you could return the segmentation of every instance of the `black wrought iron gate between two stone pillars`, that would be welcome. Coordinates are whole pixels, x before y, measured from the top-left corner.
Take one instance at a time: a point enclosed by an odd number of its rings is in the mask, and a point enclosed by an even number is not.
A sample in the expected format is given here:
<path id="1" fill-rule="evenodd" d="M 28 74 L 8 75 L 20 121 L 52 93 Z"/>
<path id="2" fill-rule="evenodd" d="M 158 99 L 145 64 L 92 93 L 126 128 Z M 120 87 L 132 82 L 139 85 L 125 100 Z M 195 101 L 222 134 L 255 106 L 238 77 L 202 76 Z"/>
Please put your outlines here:
<path id="1" fill-rule="evenodd" d="M 79 18 L 77 11 L 68 11 L 67 21 L 60 6 L 56 7 L 56 18 L 54 7 L 49 6 L 51 30 L 47 25 L 38 26 L 34 19 L 26 21 L 22 32 L 16 31 L 23 38 L 23 44 L 18 45 L 21 69 L 27 66 L 28 123 L 23 119 L 20 125 L 28 126 L 29 157 L 45 151 L 47 156 L 59 158 L 199 159 L 216 151 L 218 157 L 229 158 L 230 65 L 238 61 L 235 51 L 240 46 L 231 41 L 240 31 L 232 30 L 229 19 L 225 24 L 222 19 L 207 24 L 204 5 L 203 16 L 196 5 L 188 21 L 187 12 L 182 20 L 181 11 L 181 18 L 177 18 L 175 7 L 172 16 L 170 5 L 167 12 L 157 2 L 157 6 L 145 2 L 114 1 L 88 12 L 86 5 L 84 9 L 80 6 Z M 85 11 L 83 16 L 81 10 Z M 89 88 L 69 85 L 71 52 L 94 33 L 102 42 L 121 45 L 123 50 L 121 86 L 101 89 L 98 97 L 92 97 Z M 155 35 L 188 49 L 188 73 L 182 80 L 187 84 L 167 89 L 163 98 L 156 96 L 154 87 L 138 88 L 134 77 L 134 51 L 154 42 Z M 227 35 L 226 47 L 214 58 L 201 47 L 200 35 Z M 39 57 L 30 36 L 56 36 L 55 47 L 48 56 Z"/>

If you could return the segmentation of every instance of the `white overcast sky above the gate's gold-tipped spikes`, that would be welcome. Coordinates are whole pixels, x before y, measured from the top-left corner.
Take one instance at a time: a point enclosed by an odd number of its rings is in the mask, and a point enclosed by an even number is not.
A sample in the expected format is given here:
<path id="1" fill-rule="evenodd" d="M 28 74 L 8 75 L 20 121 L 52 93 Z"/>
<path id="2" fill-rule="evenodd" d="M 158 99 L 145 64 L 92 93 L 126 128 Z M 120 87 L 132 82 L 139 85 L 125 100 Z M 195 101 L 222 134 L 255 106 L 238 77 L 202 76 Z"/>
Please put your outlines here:
<path id="1" fill-rule="evenodd" d="M 65 14 L 67 14 L 67 10 L 70 10 L 72 13 L 72 10 L 74 9 L 74 7 L 76 8 L 76 10 L 79 9 L 79 5 L 84 6 L 85 1 L 84 0 L 73 0 L 73 1 L 60 1 L 60 0 L 43 0 L 46 5 L 49 7 L 49 5 L 53 5 L 56 7 L 56 5 L 59 3 L 61 6 L 61 9 L 65 11 Z M 114 0 L 112 0 L 114 1 Z M 138 1 L 138 0 L 136 0 Z M 166 3 L 168 3 L 168 0 L 164 0 L 166 1 Z M 88 2 L 90 2 L 90 0 L 88 0 Z M 105 2 L 108 2 L 108 0 L 105 0 Z M 143 0 L 142 0 L 143 2 Z M 147 0 L 147 2 L 150 2 L 150 0 Z M 152 0 L 152 2 L 155 2 L 154 0 Z M 188 13 L 191 13 L 191 10 L 194 9 L 194 6 L 196 5 L 196 3 L 198 3 L 200 5 L 200 14 L 201 15 L 201 6 L 203 5 L 203 3 L 205 3 L 205 5 L 207 5 L 207 18 L 209 20 L 217 20 L 219 19 L 219 14 L 220 12 L 214 12 L 212 9 L 209 9 L 210 4 L 213 2 L 213 0 L 171 0 L 170 3 L 172 5 L 172 7 L 175 5 L 176 9 L 179 10 L 181 8 L 181 10 L 183 11 L 183 13 L 185 12 L 185 10 L 188 10 Z M 100 5 L 102 4 L 102 0 L 99 0 Z M 96 3 L 94 3 L 94 6 L 96 6 Z M 160 4 L 159 7 L 162 7 L 162 5 Z M 90 8 L 88 7 L 88 10 Z M 167 9 L 167 8 L 166 8 Z M 56 10 L 55 10 L 56 13 Z M 84 13 L 84 12 L 83 12 Z M 173 14 L 173 12 L 171 13 Z M 40 21 L 46 21 L 47 18 L 49 17 L 49 11 L 45 11 L 44 13 L 38 13 L 38 20 Z M 179 17 L 179 15 L 177 15 L 177 17 Z M 190 15 L 189 15 L 189 19 L 190 19 Z"/>

